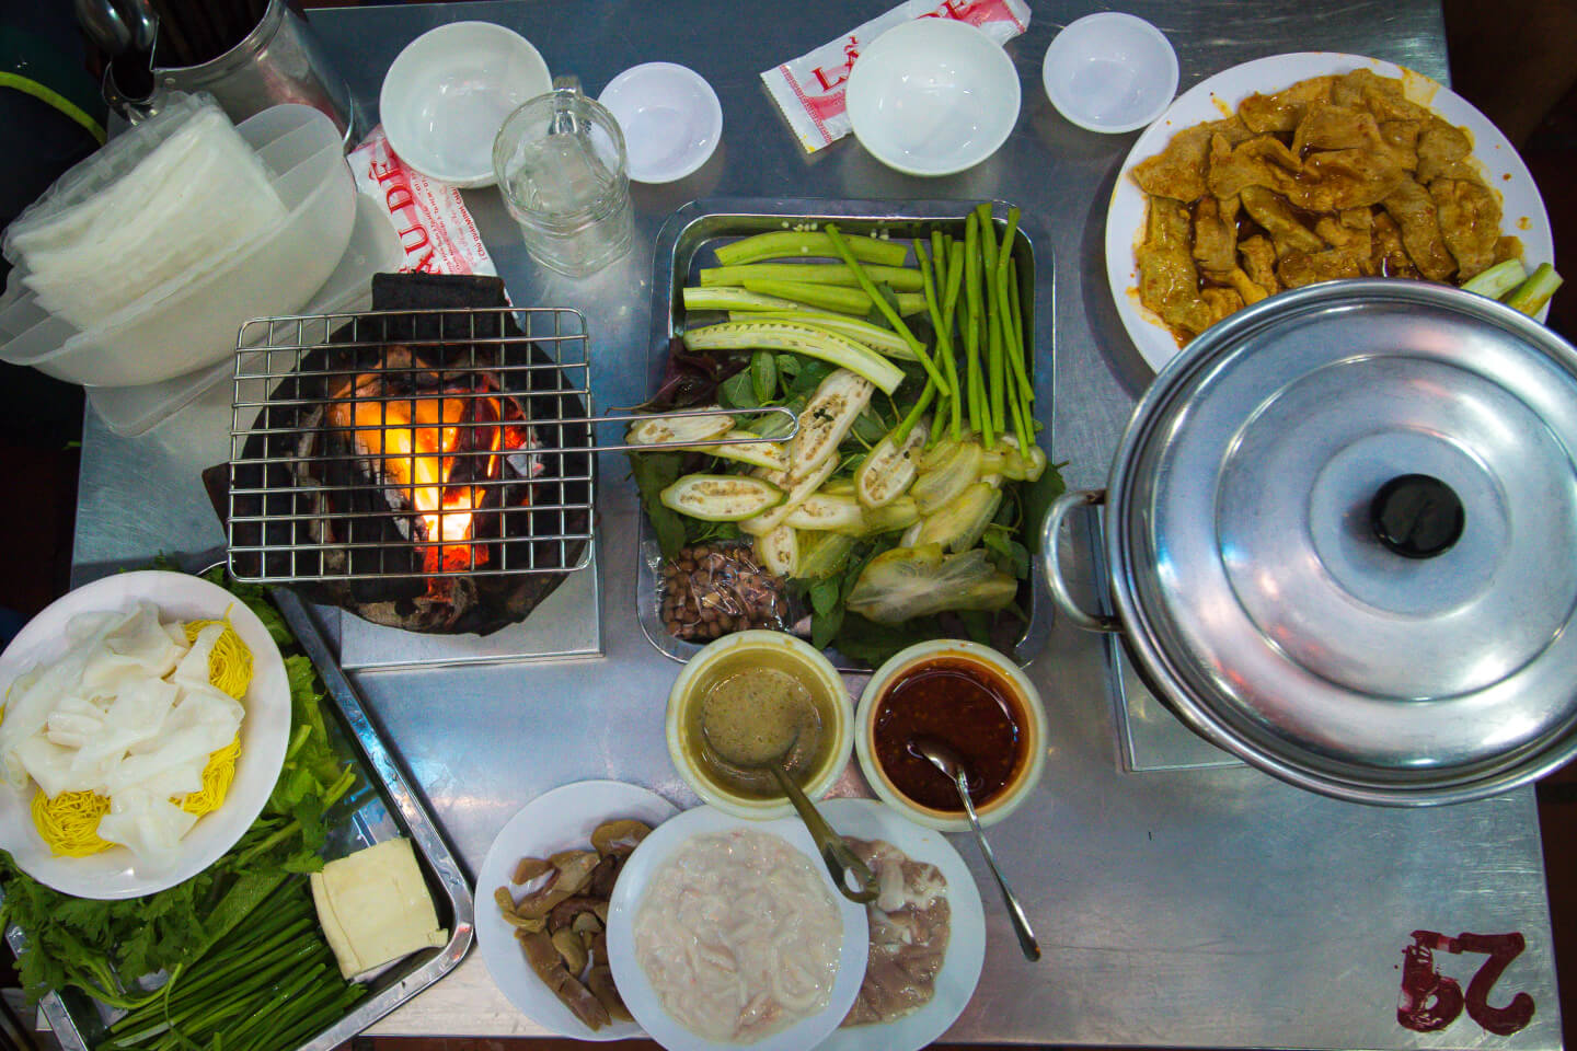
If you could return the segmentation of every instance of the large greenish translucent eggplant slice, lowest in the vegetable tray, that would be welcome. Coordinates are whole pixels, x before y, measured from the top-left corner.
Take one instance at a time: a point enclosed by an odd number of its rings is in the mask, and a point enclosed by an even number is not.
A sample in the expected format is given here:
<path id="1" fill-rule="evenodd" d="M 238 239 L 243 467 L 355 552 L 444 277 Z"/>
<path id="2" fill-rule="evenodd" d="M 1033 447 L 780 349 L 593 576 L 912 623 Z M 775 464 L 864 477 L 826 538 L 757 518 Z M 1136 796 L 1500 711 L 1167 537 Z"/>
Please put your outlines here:
<path id="1" fill-rule="evenodd" d="M 986 550 L 943 555 L 940 544 L 896 547 L 871 559 L 845 607 L 878 624 L 902 624 L 943 610 L 1000 610 L 1019 581 L 998 570 Z"/>

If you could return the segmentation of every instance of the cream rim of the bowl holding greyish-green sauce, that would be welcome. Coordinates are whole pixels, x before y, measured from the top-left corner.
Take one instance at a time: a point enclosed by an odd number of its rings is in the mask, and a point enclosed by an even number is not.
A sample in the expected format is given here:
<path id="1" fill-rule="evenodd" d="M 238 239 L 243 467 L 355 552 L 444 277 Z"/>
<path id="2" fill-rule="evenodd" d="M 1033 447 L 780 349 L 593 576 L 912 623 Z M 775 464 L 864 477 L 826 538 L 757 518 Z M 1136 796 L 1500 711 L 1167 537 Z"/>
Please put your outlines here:
<path id="1" fill-rule="evenodd" d="M 678 701 L 689 684 L 710 665 L 721 660 L 729 652 L 744 648 L 744 646 L 779 646 L 788 649 L 795 655 L 804 659 L 817 678 L 833 690 L 836 698 L 842 698 L 844 706 L 841 711 L 841 731 L 837 741 L 833 744 L 833 761 L 828 772 L 817 780 L 804 785 L 804 794 L 809 799 L 820 799 L 833 789 L 837 778 L 844 775 L 848 767 L 850 755 L 855 750 L 855 711 L 850 703 L 848 687 L 844 684 L 844 678 L 837 674 L 837 668 L 833 662 L 826 659 L 820 649 L 796 638 L 787 632 L 773 632 L 766 629 L 751 629 L 747 632 L 733 632 L 732 635 L 724 635 L 706 643 L 700 652 L 691 657 L 680 674 L 673 679 L 673 685 L 669 689 L 667 711 L 664 714 L 664 737 L 669 745 L 669 759 L 673 763 L 673 769 L 678 771 L 680 778 L 691 786 L 697 796 L 702 797 L 710 807 L 721 810 L 735 818 L 747 818 L 755 821 L 774 821 L 777 818 L 785 818 L 793 813 L 793 804 L 787 799 L 773 800 L 744 800 L 718 791 L 706 783 L 705 778 L 695 771 L 695 766 L 680 748 L 680 706 Z"/>

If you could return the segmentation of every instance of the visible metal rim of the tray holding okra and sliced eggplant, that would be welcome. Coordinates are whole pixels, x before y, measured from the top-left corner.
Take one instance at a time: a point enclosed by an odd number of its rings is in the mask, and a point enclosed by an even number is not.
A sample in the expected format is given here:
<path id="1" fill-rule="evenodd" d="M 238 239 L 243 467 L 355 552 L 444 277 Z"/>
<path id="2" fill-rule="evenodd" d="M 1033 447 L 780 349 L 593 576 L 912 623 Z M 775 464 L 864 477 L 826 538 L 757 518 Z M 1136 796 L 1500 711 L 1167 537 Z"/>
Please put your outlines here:
<path id="1" fill-rule="evenodd" d="M 867 236 L 872 232 L 886 233 L 891 240 L 913 241 L 941 230 L 964 238 L 964 225 L 976 202 L 968 200 L 823 200 L 809 197 L 718 197 L 695 200 L 675 211 L 658 232 L 653 254 L 651 282 L 651 336 L 647 340 L 647 391 L 654 392 L 662 383 L 664 355 L 669 340 L 684 328 L 681 290 L 699 280 L 703 266 L 716 266 L 716 249 L 770 230 L 793 228 L 800 224 L 837 222 L 850 236 Z M 997 232 L 1003 233 L 1008 202 L 992 202 Z M 1039 247 L 1036 247 L 1039 246 Z M 1017 258 L 1030 265 L 1019 271 L 1019 299 L 1023 304 L 1023 329 L 1028 337 L 1027 364 L 1035 383 L 1035 416 L 1044 425 L 1041 446 L 1052 448 L 1052 402 L 1057 375 L 1057 344 L 1052 331 L 1055 288 L 1050 235 L 1035 216 L 1019 216 L 1019 233 L 1014 240 Z M 1033 534 L 1033 531 L 1031 531 Z M 1031 536 L 1033 542 L 1033 536 Z M 1033 551 L 1033 547 L 1031 547 Z M 637 547 L 636 613 L 640 630 L 662 654 L 678 662 L 689 660 L 700 651 L 699 643 L 675 638 L 662 626 L 658 599 L 658 567 L 662 553 L 656 533 L 647 515 L 640 515 L 640 544 Z M 1050 635 L 1052 611 L 1039 559 L 1030 559 L 1030 622 L 1019 638 L 1020 663 L 1030 663 L 1046 646 Z M 844 657 L 836 649 L 826 651 L 841 671 L 864 673 L 869 668 Z"/>

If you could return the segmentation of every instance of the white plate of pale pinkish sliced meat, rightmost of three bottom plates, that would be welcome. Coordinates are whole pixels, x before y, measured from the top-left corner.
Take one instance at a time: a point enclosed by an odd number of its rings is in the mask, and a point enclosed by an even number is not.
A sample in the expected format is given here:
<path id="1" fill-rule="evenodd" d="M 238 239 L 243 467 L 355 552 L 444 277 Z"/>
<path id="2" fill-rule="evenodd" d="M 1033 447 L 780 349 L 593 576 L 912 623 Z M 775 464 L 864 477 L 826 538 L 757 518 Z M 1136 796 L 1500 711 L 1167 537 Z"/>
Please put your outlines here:
<path id="1" fill-rule="evenodd" d="M 867 863 L 877 862 L 882 884 L 866 908 L 871 956 L 859 996 L 817 1051 L 924 1048 L 964 1013 L 986 961 L 975 876 L 946 837 L 891 807 L 871 799 L 817 807 Z"/>

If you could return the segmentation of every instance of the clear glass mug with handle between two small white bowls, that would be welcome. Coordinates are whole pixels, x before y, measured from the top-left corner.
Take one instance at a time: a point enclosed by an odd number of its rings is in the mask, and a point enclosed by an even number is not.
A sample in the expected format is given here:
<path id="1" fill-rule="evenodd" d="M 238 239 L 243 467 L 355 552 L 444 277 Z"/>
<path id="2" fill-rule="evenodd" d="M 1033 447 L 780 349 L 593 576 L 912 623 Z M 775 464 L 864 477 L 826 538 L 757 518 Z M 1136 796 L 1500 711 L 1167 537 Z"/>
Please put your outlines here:
<path id="1" fill-rule="evenodd" d="M 509 113 L 494 140 L 494 173 L 527 251 L 542 266 L 583 277 L 629 251 L 624 134 L 574 77 Z"/>

